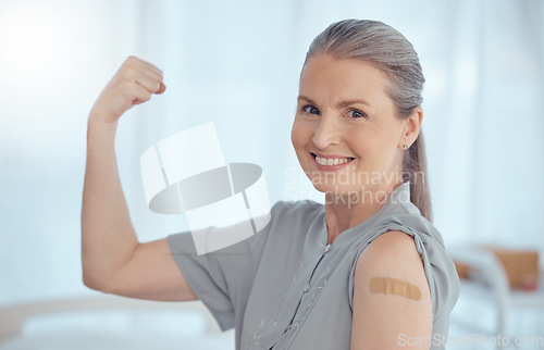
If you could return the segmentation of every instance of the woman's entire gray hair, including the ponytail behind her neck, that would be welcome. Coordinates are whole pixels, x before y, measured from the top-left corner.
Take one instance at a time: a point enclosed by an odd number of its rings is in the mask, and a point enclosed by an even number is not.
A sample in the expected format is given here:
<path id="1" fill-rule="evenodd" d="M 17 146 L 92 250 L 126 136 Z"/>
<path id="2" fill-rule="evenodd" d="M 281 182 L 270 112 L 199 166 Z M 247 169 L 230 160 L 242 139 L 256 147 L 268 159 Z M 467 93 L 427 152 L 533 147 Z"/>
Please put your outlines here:
<path id="1" fill-rule="evenodd" d="M 319 53 L 335 59 L 373 62 L 388 78 L 387 93 L 397 117 L 408 118 L 421 105 L 425 78 L 418 53 L 398 30 L 378 21 L 345 20 L 331 24 L 318 35 L 306 54 L 306 62 Z M 426 157 L 420 132 L 403 159 L 403 180 L 410 182 L 410 198 L 421 215 L 432 220 L 431 197 L 426 182 Z"/>

